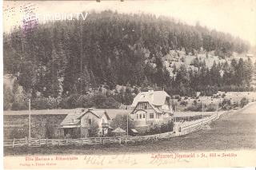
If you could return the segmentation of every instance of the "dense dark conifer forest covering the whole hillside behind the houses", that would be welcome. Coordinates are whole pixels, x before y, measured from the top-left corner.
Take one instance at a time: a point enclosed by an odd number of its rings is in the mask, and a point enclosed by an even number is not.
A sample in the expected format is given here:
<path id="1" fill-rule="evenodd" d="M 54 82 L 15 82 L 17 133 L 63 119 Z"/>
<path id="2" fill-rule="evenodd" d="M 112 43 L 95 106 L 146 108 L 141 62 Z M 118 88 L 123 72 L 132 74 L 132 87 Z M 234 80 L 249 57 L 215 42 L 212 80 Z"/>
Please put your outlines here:
<path id="1" fill-rule="evenodd" d="M 230 34 L 150 14 L 91 11 L 84 21 L 47 22 L 29 31 L 21 26 L 3 38 L 4 73 L 16 78 L 12 89 L 4 87 L 4 108 L 26 109 L 21 102 L 28 94 L 34 109 L 117 108 L 149 87 L 182 96 L 253 90 L 250 58 L 209 67 L 196 57 L 190 65 L 197 69 L 174 65 L 172 73 L 164 65 L 170 51 L 226 59 L 249 48 Z"/>

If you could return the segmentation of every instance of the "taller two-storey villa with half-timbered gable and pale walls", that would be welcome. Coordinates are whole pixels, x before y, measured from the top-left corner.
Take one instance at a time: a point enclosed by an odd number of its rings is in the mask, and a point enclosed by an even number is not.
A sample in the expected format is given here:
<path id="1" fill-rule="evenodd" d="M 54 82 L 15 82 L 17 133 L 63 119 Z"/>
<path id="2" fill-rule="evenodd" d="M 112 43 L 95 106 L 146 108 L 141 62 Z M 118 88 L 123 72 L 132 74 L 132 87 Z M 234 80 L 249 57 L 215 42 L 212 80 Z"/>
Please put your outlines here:
<path id="1" fill-rule="evenodd" d="M 165 91 L 138 93 L 131 107 L 130 115 L 137 127 L 166 123 L 173 115 L 170 96 Z"/>

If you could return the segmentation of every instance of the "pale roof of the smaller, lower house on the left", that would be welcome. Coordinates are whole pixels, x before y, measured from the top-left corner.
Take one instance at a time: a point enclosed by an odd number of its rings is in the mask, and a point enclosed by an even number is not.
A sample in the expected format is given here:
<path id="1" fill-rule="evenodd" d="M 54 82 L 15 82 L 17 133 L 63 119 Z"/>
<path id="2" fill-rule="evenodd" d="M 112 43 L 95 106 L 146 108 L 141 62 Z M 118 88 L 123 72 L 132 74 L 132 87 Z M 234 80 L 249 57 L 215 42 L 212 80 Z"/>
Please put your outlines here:
<path id="1" fill-rule="evenodd" d="M 69 113 L 65 119 L 62 121 L 61 125 L 78 125 L 80 124 L 81 117 L 83 117 L 86 113 L 92 113 L 98 118 L 102 118 L 103 115 L 106 115 L 107 121 L 110 121 L 110 117 L 106 113 L 105 110 L 94 110 L 94 109 L 77 109 L 72 113 Z"/>

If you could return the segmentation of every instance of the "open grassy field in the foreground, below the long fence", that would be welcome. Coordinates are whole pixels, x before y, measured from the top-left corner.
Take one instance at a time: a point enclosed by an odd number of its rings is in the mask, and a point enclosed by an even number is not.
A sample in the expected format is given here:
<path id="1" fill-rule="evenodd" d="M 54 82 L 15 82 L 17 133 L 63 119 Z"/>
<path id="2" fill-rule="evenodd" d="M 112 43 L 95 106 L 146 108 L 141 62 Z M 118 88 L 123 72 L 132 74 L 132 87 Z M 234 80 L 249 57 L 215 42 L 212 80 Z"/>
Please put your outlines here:
<path id="1" fill-rule="evenodd" d="M 210 124 L 210 128 L 150 143 L 110 146 L 64 146 L 54 148 L 4 148 L 8 155 L 47 154 L 124 154 L 185 152 L 233 149 L 256 149 L 256 104 L 249 105 L 236 113 L 223 114 L 221 119 Z"/>

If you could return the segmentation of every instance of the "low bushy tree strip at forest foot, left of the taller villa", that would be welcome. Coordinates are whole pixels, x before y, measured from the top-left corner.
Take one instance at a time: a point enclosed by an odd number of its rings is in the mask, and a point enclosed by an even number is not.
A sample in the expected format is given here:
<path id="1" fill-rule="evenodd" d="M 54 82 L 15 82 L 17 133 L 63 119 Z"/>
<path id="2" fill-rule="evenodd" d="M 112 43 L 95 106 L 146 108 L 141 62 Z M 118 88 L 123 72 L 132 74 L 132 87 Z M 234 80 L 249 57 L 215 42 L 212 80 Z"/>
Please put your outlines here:
<path id="1" fill-rule="evenodd" d="M 3 87 L 3 109 L 24 110 L 29 109 L 28 93 L 19 93 L 17 81 L 14 81 L 12 91 L 10 87 Z M 16 86 L 16 87 L 15 87 Z M 31 109 L 74 109 L 74 108 L 98 108 L 98 109 L 127 109 L 131 105 L 138 89 L 132 89 L 129 84 L 126 89 L 110 91 L 104 87 L 94 89 L 88 94 L 70 94 L 62 97 L 43 97 L 38 95 L 31 98 Z"/>

